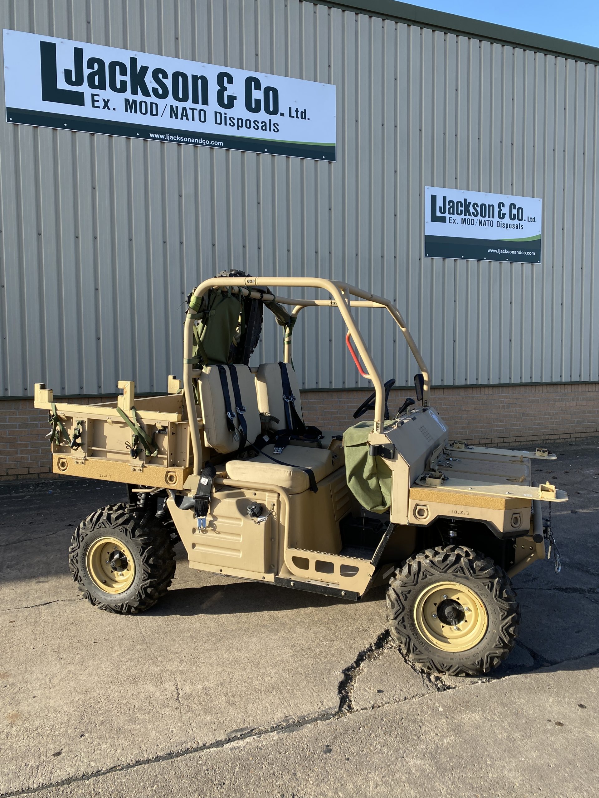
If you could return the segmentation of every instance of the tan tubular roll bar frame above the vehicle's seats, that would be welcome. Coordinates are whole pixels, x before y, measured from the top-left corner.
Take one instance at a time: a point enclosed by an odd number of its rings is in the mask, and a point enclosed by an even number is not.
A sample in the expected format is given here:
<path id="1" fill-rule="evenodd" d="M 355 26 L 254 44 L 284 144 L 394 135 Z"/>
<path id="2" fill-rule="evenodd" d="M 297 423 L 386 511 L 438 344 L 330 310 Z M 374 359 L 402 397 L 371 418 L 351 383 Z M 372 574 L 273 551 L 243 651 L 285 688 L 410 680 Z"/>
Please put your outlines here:
<path id="1" fill-rule="evenodd" d="M 262 290 L 255 290 L 257 286 L 268 283 L 268 286 L 283 286 L 288 288 L 320 288 L 330 294 L 331 299 L 296 299 L 276 294 L 264 294 Z M 430 388 L 430 377 L 426 363 L 422 359 L 418 346 L 414 338 L 407 329 L 406 322 L 403 321 L 402 315 L 399 310 L 389 302 L 388 299 L 379 297 L 376 294 L 371 294 L 369 291 L 364 291 L 356 286 L 347 285 L 345 282 L 336 280 L 326 280 L 319 277 L 212 277 L 208 280 L 201 282 L 193 291 L 193 296 L 201 298 L 211 288 L 230 288 L 234 293 L 241 293 L 244 296 L 249 296 L 255 299 L 264 299 L 267 302 L 279 302 L 281 305 L 291 305 L 293 307 L 292 316 L 297 318 L 300 310 L 304 307 L 338 307 L 339 312 L 343 317 L 343 321 L 351 334 L 351 338 L 355 342 L 355 346 L 359 352 L 360 357 L 366 365 L 369 378 L 375 389 L 375 432 L 381 432 L 383 429 L 384 420 L 384 406 L 385 406 L 385 391 L 383 388 L 383 381 L 381 380 L 379 370 L 376 368 L 371 359 L 367 346 L 363 341 L 362 335 L 355 324 L 355 319 L 351 314 L 352 307 L 381 307 L 387 308 L 392 318 L 399 326 L 403 333 L 403 337 L 410 347 L 411 353 L 414 355 L 415 361 L 419 365 L 419 369 L 424 377 L 422 405 L 428 404 L 428 393 Z M 350 297 L 357 297 L 351 299 Z M 201 461 L 201 441 L 200 430 L 197 425 L 197 409 L 196 402 L 193 394 L 193 364 L 192 364 L 192 350 L 193 350 L 193 324 L 196 315 L 188 310 L 185 316 L 184 325 L 184 338 L 183 338 L 183 387 L 184 399 L 187 407 L 189 419 L 189 433 L 192 439 L 193 449 L 193 472 L 196 475 L 200 474 L 202 461 Z M 284 359 L 286 362 L 290 360 L 289 343 L 284 344 Z M 193 422 L 196 423 L 193 423 Z"/>

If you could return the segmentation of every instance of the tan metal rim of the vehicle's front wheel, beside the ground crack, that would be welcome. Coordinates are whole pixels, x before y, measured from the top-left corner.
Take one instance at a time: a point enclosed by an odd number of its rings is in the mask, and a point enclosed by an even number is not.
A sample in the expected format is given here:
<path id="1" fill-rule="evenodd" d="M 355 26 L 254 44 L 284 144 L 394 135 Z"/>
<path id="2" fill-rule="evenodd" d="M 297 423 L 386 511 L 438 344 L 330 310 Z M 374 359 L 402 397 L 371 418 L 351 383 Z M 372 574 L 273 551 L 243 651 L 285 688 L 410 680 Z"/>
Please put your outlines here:
<path id="1" fill-rule="evenodd" d="M 416 601 L 414 620 L 422 637 L 442 651 L 474 648 L 489 627 L 481 599 L 458 582 L 425 587 Z"/>

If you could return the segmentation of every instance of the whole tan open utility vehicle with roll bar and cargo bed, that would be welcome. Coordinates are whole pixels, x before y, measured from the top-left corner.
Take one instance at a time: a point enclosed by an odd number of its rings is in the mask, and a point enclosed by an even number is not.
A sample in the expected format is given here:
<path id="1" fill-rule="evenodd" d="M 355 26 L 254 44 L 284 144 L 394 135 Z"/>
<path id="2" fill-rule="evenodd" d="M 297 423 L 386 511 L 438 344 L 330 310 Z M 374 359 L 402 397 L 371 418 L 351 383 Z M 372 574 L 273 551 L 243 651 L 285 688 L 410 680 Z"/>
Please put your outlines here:
<path id="1" fill-rule="evenodd" d="M 531 459 L 553 456 L 450 442 L 429 405 L 422 355 L 387 299 L 331 280 L 268 279 L 327 295 L 290 298 L 262 282 L 228 272 L 189 295 L 183 380 L 169 377 L 167 396 L 136 399 L 133 382 L 121 381 L 116 402 L 57 405 L 36 385 L 54 472 L 129 489 L 128 503 L 77 527 L 73 579 L 103 610 L 147 610 L 173 579 L 180 539 L 190 566 L 215 574 L 351 601 L 387 583 L 391 636 L 411 662 L 486 673 L 517 635 L 510 578 L 553 543 L 540 503 L 568 498 L 531 479 Z M 373 410 L 374 421 L 345 433 L 304 424 L 291 341 L 307 306 L 341 313 L 375 389 L 355 417 Z M 251 369 L 264 307 L 284 327 L 284 361 Z M 419 406 L 407 399 L 389 417 L 394 381 L 383 385 L 356 307 L 395 319 L 419 365 Z"/>

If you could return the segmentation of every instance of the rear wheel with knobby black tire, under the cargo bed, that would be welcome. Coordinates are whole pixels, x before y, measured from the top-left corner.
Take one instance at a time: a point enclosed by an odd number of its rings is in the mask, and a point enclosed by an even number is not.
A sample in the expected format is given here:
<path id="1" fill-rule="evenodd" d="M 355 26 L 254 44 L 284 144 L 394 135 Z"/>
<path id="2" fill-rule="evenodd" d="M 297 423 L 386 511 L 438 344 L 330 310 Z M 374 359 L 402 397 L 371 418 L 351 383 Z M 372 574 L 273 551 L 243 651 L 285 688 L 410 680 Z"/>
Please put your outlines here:
<path id="1" fill-rule="evenodd" d="M 134 504 L 112 504 L 93 512 L 74 531 L 69 568 L 91 604 L 134 614 L 165 595 L 175 574 L 175 555 L 169 532 L 153 513 Z"/>

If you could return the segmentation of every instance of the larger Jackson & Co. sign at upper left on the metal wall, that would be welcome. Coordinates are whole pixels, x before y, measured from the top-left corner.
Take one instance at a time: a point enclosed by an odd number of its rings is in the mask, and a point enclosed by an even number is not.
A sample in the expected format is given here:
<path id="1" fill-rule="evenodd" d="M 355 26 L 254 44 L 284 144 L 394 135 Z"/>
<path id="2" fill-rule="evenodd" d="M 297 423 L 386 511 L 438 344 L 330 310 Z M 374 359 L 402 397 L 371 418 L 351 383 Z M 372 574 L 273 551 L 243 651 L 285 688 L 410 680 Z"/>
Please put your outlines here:
<path id="1" fill-rule="evenodd" d="M 335 160 L 335 86 L 4 30 L 6 121 Z"/>

